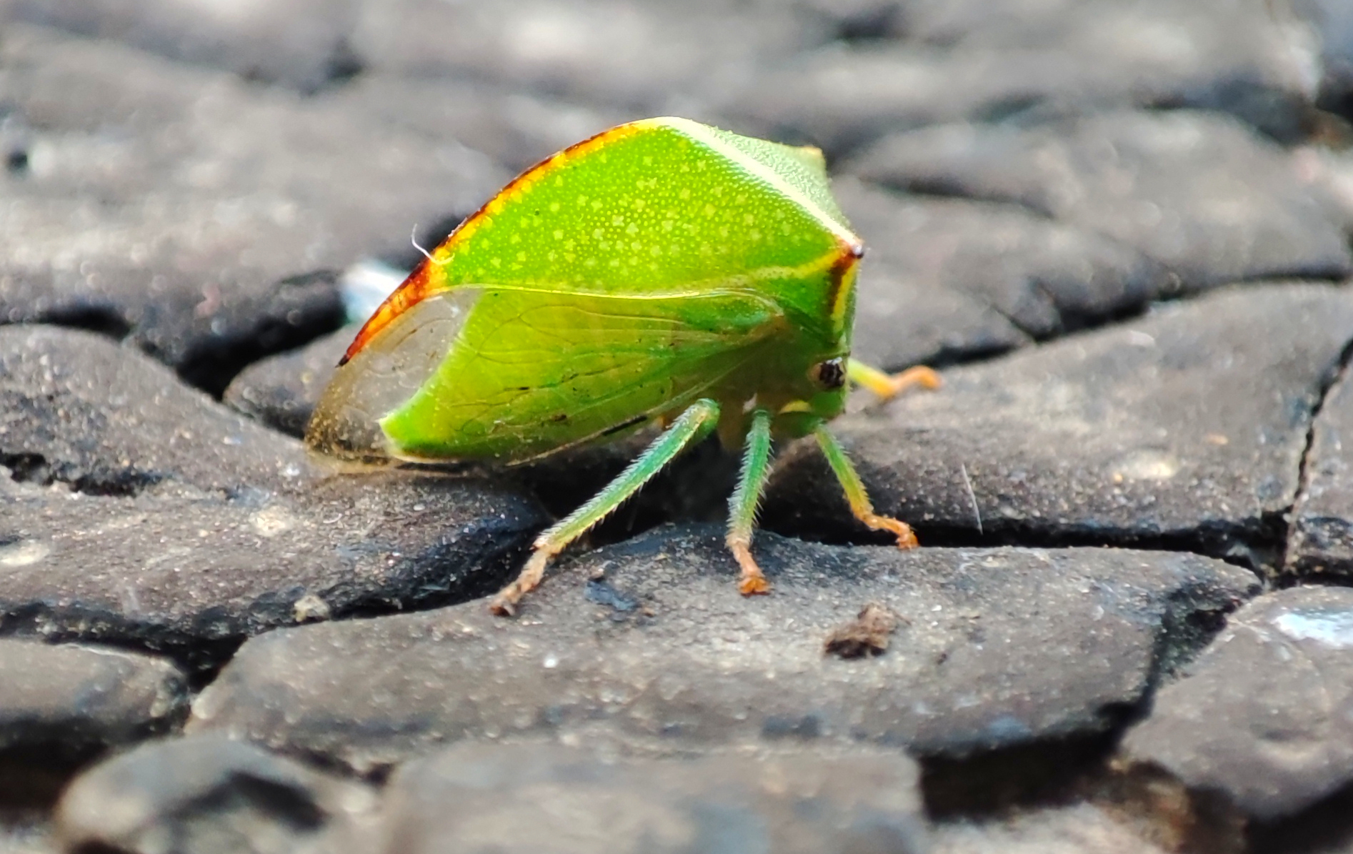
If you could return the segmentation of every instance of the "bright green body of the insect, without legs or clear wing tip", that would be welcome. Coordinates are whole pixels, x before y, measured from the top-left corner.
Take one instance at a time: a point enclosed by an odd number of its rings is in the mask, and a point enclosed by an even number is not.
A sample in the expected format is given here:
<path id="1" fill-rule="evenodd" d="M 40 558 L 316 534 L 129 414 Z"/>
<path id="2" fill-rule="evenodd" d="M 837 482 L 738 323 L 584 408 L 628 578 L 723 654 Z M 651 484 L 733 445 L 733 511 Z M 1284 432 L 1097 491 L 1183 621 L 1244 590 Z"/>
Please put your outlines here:
<path id="1" fill-rule="evenodd" d="M 858 253 L 816 150 L 683 119 L 626 125 L 468 219 L 342 371 L 361 371 L 368 353 L 398 360 L 402 329 L 455 295 L 459 329 L 418 361 L 432 372 L 364 413 L 386 453 L 530 459 L 670 421 L 700 398 L 721 405 L 720 432 L 735 441 L 752 398 L 840 411 L 843 390 L 809 374 L 850 351 Z M 322 403 L 321 421 L 342 403 Z M 813 426 L 785 415 L 777 433 Z"/>

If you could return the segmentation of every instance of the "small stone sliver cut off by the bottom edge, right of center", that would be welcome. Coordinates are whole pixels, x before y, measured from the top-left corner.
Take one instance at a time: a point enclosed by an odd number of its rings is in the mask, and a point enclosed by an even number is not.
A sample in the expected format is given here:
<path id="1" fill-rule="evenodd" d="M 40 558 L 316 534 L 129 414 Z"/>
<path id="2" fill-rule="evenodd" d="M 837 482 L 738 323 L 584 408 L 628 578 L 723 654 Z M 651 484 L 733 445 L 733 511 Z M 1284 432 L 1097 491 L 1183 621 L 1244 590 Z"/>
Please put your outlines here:
<path id="1" fill-rule="evenodd" d="M 1099 807 L 1022 811 L 935 827 L 931 854 L 1165 854 Z"/>

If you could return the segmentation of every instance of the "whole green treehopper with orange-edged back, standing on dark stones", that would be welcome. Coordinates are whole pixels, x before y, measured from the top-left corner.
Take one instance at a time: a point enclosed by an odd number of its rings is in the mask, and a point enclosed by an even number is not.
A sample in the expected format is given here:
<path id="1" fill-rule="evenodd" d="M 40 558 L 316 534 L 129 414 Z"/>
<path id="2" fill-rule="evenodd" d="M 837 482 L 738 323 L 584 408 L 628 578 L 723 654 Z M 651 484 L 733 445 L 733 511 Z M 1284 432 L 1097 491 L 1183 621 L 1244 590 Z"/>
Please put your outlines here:
<path id="1" fill-rule="evenodd" d="M 855 517 L 909 548 L 825 428 L 847 379 L 885 397 L 938 384 L 850 359 L 862 254 L 817 149 L 678 118 L 621 125 L 528 169 L 428 253 L 357 333 L 306 440 L 346 457 L 520 463 L 662 424 L 536 539 L 491 600 L 499 614 L 716 430 L 743 448 L 727 537 L 743 594 L 770 589 L 751 540 L 773 440 L 812 434 Z"/>

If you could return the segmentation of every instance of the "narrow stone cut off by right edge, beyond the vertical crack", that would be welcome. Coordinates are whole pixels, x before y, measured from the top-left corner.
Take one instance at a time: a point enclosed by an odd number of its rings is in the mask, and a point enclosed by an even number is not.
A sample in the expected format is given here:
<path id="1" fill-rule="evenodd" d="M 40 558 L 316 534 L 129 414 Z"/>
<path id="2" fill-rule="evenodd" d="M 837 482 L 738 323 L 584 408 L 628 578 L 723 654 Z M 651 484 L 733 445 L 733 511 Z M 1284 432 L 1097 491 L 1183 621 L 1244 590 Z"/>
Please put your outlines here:
<path id="1" fill-rule="evenodd" d="M 1353 471 L 1344 437 L 1353 429 L 1348 372 L 1325 395 L 1303 464 L 1304 482 L 1292 508 L 1287 571 L 1353 574 Z"/>

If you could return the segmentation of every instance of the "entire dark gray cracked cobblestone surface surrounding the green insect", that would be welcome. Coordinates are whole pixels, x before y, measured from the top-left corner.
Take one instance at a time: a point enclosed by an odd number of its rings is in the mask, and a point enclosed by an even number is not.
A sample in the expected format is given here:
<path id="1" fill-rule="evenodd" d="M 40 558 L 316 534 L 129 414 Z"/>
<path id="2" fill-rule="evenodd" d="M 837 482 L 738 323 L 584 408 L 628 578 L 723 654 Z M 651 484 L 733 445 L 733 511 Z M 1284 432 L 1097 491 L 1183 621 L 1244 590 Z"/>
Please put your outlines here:
<path id="1" fill-rule="evenodd" d="M 0 851 L 1350 850 L 1344 7 L 0 0 Z M 706 444 L 494 620 L 643 436 L 295 437 L 411 233 L 660 114 L 827 152 L 924 548 L 781 448 L 743 601 Z"/>

